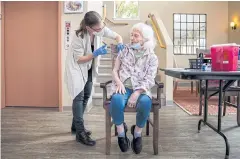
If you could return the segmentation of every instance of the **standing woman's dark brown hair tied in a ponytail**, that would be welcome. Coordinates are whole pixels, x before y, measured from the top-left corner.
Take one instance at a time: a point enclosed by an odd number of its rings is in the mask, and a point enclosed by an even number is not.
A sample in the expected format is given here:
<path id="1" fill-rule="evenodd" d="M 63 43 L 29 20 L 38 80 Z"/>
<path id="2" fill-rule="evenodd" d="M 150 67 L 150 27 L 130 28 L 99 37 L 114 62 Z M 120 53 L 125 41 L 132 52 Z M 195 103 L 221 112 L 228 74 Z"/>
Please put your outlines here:
<path id="1" fill-rule="evenodd" d="M 87 33 L 86 26 L 92 27 L 99 24 L 102 21 L 101 16 L 95 11 L 89 11 L 84 15 L 83 20 L 80 23 L 80 27 L 76 30 L 76 36 L 84 38 L 84 34 Z"/>

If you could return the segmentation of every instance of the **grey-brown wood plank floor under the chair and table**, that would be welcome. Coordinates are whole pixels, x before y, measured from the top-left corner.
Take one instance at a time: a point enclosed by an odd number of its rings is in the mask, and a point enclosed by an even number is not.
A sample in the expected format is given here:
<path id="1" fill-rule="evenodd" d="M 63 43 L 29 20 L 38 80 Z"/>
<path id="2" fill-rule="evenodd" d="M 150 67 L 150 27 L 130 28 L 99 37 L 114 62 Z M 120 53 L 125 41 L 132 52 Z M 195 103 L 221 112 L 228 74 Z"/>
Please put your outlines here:
<path id="1" fill-rule="evenodd" d="M 160 110 L 159 155 L 154 156 L 152 136 L 143 138 L 143 151 L 135 155 L 131 149 L 121 153 L 116 137 L 112 137 L 111 155 L 104 154 L 105 132 L 104 112 L 101 107 L 93 108 L 86 114 L 87 128 L 93 131 L 97 140 L 95 147 L 83 146 L 70 134 L 71 112 L 57 112 L 41 108 L 4 108 L 2 109 L 2 159 L 188 159 L 224 158 L 225 144 L 222 137 L 204 126 L 197 133 L 200 117 L 189 116 L 178 107 L 164 107 Z M 130 127 L 135 115 L 125 116 Z M 216 123 L 216 116 L 209 121 Z M 236 116 L 223 118 L 223 132 L 231 146 L 230 159 L 240 156 L 240 128 L 236 127 Z M 150 132 L 151 133 L 151 132 Z M 128 132 L 130 139 L 130 133 Z"/>

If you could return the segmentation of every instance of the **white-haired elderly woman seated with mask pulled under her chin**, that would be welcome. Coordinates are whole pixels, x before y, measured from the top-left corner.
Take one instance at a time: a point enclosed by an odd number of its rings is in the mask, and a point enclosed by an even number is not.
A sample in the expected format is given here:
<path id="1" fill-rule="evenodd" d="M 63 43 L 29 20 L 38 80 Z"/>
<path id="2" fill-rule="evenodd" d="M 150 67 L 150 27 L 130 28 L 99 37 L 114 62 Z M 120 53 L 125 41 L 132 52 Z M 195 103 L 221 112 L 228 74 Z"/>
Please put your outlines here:
<path id="1" fill-rule="evenodd" d="M 155 44 L 152 28 L 144 23 L 135 24 L 131 29 L 130 44 L 125 46 L 115 61 L 110 114 L 117 126 L 118 144 L 122 152 L 126 152 L 130 145 L 124 123 L 125 106 L 136 107 L 136 125 L 131 127 L 131 147 L 136 154 L 142 150 L 141 133 L 151 111 L 151 88 L 155 85 L 158 68 Z"/>

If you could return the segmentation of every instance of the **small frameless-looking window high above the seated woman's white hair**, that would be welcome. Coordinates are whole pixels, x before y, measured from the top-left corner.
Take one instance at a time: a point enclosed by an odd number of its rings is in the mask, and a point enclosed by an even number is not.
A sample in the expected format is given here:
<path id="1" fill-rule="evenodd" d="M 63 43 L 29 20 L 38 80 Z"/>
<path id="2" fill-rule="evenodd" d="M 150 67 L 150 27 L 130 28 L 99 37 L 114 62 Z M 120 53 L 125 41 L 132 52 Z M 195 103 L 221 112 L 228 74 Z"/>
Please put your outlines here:
<path id="1" fill-rule="evenodd" d="M 139 19 L 138 1 L 114 1 L 114 18 Z"/>

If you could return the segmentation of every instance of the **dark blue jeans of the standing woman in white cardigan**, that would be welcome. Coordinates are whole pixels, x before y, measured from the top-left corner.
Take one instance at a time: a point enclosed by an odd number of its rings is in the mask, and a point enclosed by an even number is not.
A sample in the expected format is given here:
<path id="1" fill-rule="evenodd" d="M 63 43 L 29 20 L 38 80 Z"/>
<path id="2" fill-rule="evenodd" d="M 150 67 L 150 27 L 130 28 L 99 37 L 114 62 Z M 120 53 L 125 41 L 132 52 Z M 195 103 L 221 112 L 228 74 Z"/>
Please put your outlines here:
<path id="1" fill-rule="evenodd" d="M 88 80 L 84 86 L 83 91 L 80 92 L 74 98 L 73 104 L 72 104 L 72 112 L 73 112 L 72 127 L 75 127 L 77 132 L 79 131 L 81 132 L 85 129 L 83 114 L 86 109 L 91 92 L 92 92 L 92 68 L 88 71 Z"/>

